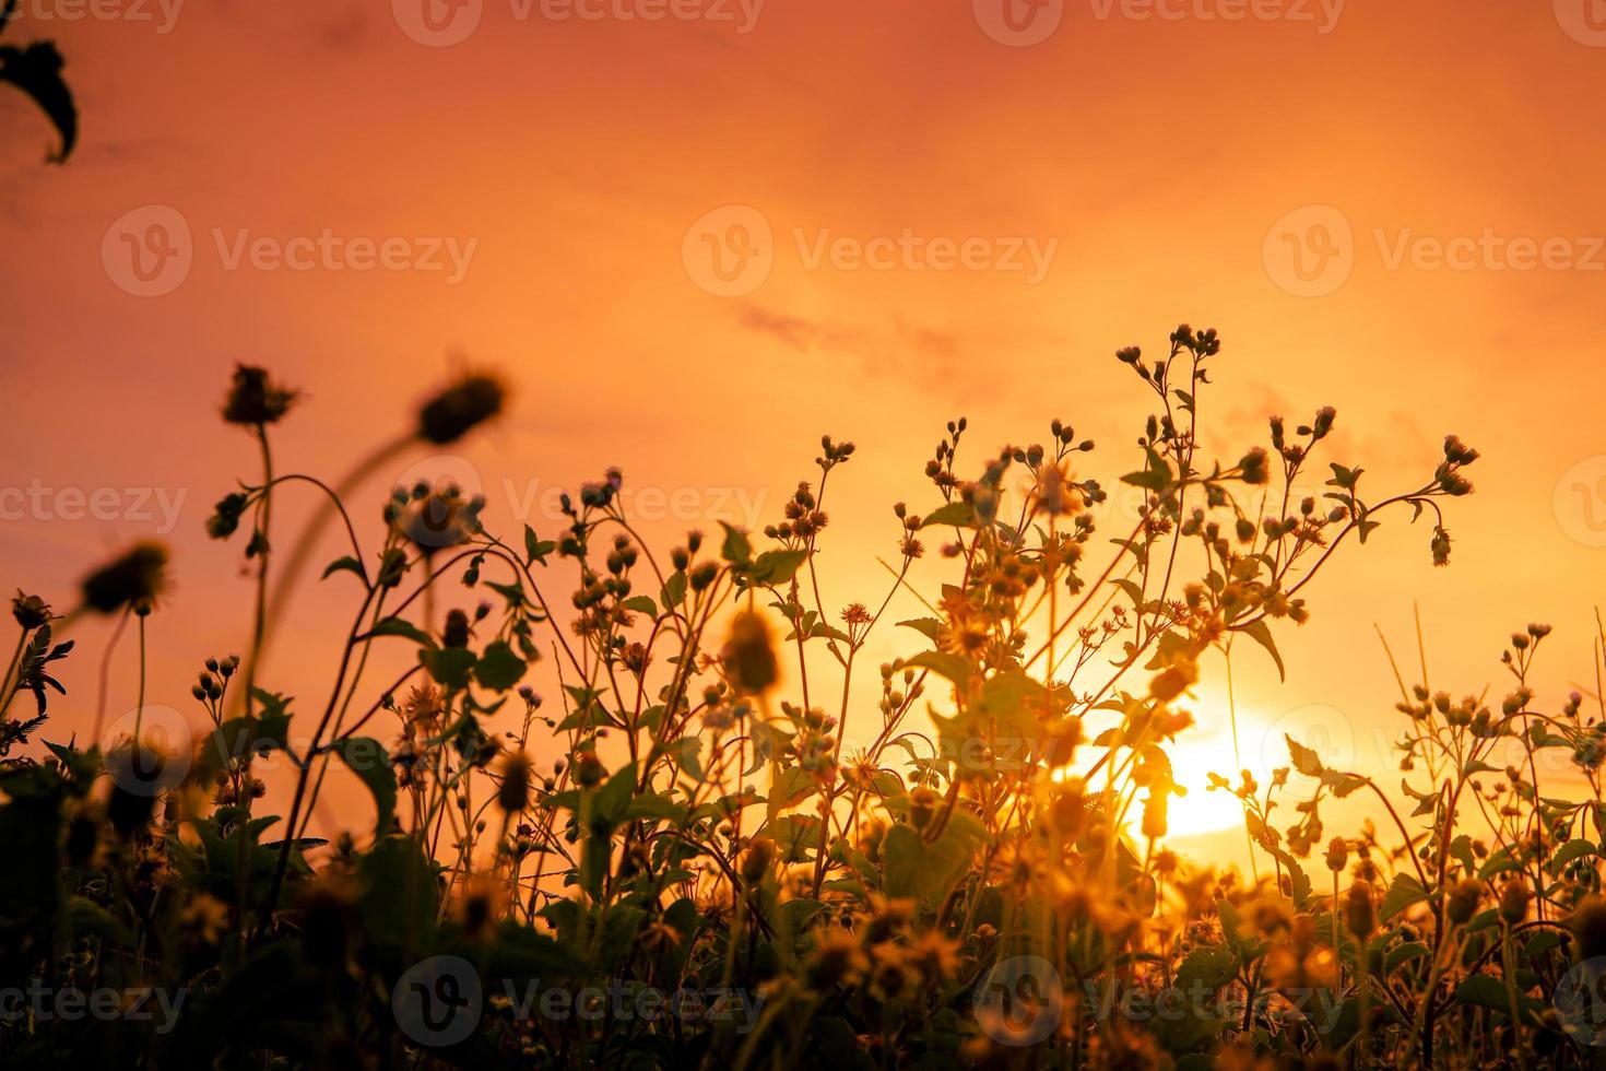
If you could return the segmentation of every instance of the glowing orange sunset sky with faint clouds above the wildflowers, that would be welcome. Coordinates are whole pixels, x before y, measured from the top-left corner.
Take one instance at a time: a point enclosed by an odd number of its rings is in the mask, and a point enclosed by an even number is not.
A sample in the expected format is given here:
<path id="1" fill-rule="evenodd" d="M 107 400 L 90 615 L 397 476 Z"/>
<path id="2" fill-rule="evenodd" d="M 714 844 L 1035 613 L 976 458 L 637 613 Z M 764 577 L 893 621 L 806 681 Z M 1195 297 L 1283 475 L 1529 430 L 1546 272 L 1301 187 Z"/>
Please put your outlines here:
<path id="1" fill-rule="evenodd" d="M 1086 475 L 1132 469 L 1150 397 L 1111 355 L 1179 321 L 1224 337 L 1203 419 L 1229 459 L 1320 405 L 1373 491 L 1420 485 L 1445 432 L 1484 454 L 1449 568 L 1400 515 L 1312 586 L 1286 682 L 1245 650 L 1246 750 L 1338 726 L 1384 769 L 1373 626 L 1415 679 L 1413 604 L 1434 687 L 1498 698 L 1531 620 L 1556 626 L 1540 703 L 1593 687 L 1606 3 L 22 0 L 0 40 L 34 39 L 82 136 L 43 164 L 50 128 L 0 87 L 0 583 L 66 609 L 106 554 L 169 540 L 151 702 L 199 718 L 194 670 L 246 642 L 241 546 L 202 533 L 255 466 L 217 419 L 236 361 L 307 390 L 281 464 L 328 477 L 453 369 L 509 379 L 454 461 L 368 487 L 369 533 L 389 485 L 440 470 L 490 527 L 551 533 L 543 493 L 612 464 L 665 543 L 758 525 L 821 434 L 851 438 L 822 556 L 842 605 L 885 593 L 890 506 L 935 503 L 951 417 L 972 464 L 1063 417 L 1100 446 Z M 267 684 L 321 703 L 352 605 L 339 580 L 304 594 Z M 88 732 L 104 631 L 77 629 L 47 737 Z M 877 658 L 917 649 L 901 631 Z M 1221 755 L 1209 673 L 1196 747 Z M 125 644 L 112 718 L 133 681 Z"/>

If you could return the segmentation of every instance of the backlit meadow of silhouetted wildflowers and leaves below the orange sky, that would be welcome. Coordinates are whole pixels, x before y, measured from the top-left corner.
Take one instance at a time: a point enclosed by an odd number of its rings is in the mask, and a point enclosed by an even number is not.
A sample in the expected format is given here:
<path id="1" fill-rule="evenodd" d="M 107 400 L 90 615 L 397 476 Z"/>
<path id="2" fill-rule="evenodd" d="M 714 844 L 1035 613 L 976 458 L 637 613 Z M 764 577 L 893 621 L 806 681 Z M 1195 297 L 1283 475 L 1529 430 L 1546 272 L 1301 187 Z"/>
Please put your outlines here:
<path id="1" fill-rule="evenodd" d="M 1400 681 L 1397 787 L 1293 739 L 1269 780 L 1214 777 L 1257 877 L 1168 848 L 1201 671 L 1280 668 L 1328 560 L 1394 519 L 1444 565 L 1478 451 L 1450 435 L 1420 482 L 1373 490 L 1325 456 L 1323 408 L 1217 461 L 1216 332 L 1116 360 L 1153 411 L 1124 475 L 1089 477 L 1068 422 L 972 454 L 956 419 L 885 546 L 835 548 L 887 565 L 846 605 L 817 554 L 850 442 L 822 438 L 761 530 L 649 546 L 609 470 L 562 527 L 495 533 L 453 487 L 376 501 L 373 459 L 279 472 L 302 398 L 239 368 L 222 414 L 259 469 L 207 530 L 244 556 L 225 612 L 249 641 L 191 652 L 193 739 L 143 715 L 164 546 L 13 602 L 6 1066 L 1590 1066 L 1606 708 L 1540 698 L 1548 628 L 1510 637 L 1503 695 Z M 464 374 L 379 456 L 504 403 Z M 1129 523 L 1111 493 L 1139 496 Z M 276 523 L 291 495 L 320 501 L 308 531 Z M 320 576 L 328 531 L 347 546 Z M 922 559 L 941 583 L 915 583 Z M 350 601 L 316 671 L 262 657 L 299 584 Z M 137 637 L 141 692 L 63 739 L 59 705 L 108 707 L 63 698 L 85 615 Z M 874 665 L 885 629 L 906 654 Z M 376 650 L 405 673 L 377 678 Z M 337 779 L 371 827 L 313 827 Z M 1378 821 L 1327 829 L 1354 793 Z M 101 992 L 104 1013 L 58 999 Z"/>

